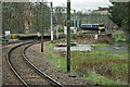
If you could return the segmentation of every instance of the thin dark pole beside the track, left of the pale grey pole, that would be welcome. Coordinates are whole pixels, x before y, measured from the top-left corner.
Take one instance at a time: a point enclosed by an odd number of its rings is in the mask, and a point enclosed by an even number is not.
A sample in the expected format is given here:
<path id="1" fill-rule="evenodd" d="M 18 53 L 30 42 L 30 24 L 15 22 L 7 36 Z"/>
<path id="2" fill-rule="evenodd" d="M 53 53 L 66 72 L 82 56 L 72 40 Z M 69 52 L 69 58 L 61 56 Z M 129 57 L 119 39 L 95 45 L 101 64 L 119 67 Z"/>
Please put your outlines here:
<path id="1" fill-rule="evenodd" d="M 42 24 L 41 24 L 41 52 L 43 52 L 43 0 L 42 0 L 42 4 L 41 4 L 41 16 L 42 16 Z"/>

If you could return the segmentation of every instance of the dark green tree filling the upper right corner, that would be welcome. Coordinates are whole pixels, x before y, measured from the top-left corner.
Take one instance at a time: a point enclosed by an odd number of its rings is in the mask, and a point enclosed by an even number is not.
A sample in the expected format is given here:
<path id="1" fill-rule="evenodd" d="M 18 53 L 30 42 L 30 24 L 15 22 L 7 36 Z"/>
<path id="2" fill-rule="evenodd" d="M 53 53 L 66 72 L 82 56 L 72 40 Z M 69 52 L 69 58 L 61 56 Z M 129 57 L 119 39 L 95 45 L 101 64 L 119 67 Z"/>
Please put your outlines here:
<path id="1" fill-rule="evenodd" d="M 130 2 L 112 2 L 109 18 L 126 34 L 130 33 Z"/>

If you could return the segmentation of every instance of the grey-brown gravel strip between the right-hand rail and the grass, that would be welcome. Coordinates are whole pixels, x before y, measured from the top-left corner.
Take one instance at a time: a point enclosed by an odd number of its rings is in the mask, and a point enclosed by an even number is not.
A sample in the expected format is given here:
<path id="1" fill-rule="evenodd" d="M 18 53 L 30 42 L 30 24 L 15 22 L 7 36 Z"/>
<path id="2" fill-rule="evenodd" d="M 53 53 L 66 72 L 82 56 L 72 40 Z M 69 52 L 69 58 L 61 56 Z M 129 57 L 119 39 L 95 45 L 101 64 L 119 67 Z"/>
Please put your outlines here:
<path id="1" fill-rule="evenodd" d="M 48 44 L 48 42 L 47 42 Z M 44 47 L 47 46 L 44 44 Z M 46 48 L 44 48 L 46 50 Z M 43 54 L 40 52 L 40 44 L 34 45 L 26 50 L 26 55 L 30 62 L 32 62 L 38 69 L 47 73 L 49 76 L 54 78 L 55 80 L 60 82 L 62 85 L 72 86 L 72 85 L 82 85 L 88 86 L 92 84 L 89 80 L 84 80 L 81 77 L 68 74 L 58 70 L 51 64 L 49 64 L 44 59 Z"/>

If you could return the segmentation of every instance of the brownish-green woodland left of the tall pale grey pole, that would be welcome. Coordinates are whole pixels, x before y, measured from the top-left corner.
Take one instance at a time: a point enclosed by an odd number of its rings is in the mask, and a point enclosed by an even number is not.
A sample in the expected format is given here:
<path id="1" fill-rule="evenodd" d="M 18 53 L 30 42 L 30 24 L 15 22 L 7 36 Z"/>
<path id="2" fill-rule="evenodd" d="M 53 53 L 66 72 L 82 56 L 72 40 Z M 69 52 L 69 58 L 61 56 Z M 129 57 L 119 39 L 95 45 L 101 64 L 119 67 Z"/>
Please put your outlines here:
<path id="1" fill-rule="evenodd" d="M 8 2 L 2 3 L 2 30 L 17 30 L 24 33 L 26 26 L 29 29 L 41 29 L 41 3 Z M 44 27 L 50 27 L 50 7 L 43 4 Z"/>

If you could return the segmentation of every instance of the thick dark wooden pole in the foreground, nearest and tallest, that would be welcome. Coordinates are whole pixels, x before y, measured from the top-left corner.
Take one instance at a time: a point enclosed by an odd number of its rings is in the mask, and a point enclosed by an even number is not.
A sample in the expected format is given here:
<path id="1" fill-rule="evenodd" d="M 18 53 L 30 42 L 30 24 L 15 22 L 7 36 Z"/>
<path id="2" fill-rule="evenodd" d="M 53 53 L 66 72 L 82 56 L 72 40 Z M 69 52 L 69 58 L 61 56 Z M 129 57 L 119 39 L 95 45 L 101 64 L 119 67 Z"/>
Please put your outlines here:
<path id="1" fill-rule="evenodd" d="M 70 0 L 67 0 L 67 72 L 70 72 Z"/>

